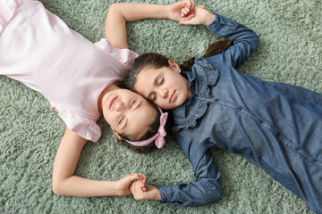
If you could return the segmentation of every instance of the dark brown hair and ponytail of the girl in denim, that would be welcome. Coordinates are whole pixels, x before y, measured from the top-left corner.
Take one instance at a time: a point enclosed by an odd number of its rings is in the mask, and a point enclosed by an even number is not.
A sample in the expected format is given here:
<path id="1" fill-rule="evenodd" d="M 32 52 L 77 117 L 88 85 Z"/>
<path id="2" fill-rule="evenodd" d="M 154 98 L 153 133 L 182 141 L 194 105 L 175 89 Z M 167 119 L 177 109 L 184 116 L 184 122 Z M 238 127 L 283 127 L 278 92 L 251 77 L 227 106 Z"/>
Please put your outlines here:
<path id="1" fill-rule="evenodd" d="M 208 45 L 208 48 L 205 51 L 205 53 L 202 55 L 202 57 L 207 58 L 209 56 L 222 53 L 231 45 L 233 45 L 233 42 L 231 40 L 218 40 Z M 190 59 L 184 61 L 180 65 L 180 69 L 182 71 L 190 71 L 195 58 L 196 57 L 191 57 Z M 168 58 L 166 58 L 164 55 L 161 55 L 159 53 L 144 53 L 140 55 L 138 58 L 135 59 L 131 71 L 121 83 L 122 86 L 134 91 L 134 85 L 136 83 L 137 76 L 140 73 L 140 70 L 146 67 L 153 67 L 155 69 L 169 67 Z"/>

